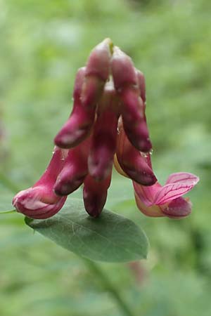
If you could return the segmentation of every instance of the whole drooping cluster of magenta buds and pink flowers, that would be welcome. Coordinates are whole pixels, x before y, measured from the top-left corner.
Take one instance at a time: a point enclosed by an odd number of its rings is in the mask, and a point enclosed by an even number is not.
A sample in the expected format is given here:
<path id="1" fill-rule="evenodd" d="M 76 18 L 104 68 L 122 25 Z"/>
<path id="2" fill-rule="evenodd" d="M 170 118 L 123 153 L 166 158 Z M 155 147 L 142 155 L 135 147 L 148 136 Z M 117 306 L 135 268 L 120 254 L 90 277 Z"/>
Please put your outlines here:
<path id="1" fill-rule="evenodd" d="M 56 147 L 39 181 L 13 198 L 30 218 L 57 213 L 70 193 L 84 185 L 84 207 L 97 217 L 106 203 L 113 162 L 133 180 L 136 204 L 148 216 L 188 215 L 181 197 L 198 182 L 191 173 L 174 173 L 162 187 L 151 165 L 142 72 L 110 39 L 98 44 L 77 71 L 73 108 L 54 139 Z"/>

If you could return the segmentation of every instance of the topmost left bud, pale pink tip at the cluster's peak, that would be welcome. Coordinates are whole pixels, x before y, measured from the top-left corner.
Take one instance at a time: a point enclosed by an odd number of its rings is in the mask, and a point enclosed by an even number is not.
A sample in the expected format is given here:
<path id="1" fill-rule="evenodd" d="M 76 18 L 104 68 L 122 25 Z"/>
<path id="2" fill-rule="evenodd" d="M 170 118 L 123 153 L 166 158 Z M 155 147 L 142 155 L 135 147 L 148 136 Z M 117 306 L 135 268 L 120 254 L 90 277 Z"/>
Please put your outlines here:
<path id="1" fill-rule="evenodd" d="M 85 107 L 96 107 L 103 93 L 103 87 L 110 74 L 112 46 L 110 39 L 104 39 L 89 55 L 82 87 L 82 104 Z"/>

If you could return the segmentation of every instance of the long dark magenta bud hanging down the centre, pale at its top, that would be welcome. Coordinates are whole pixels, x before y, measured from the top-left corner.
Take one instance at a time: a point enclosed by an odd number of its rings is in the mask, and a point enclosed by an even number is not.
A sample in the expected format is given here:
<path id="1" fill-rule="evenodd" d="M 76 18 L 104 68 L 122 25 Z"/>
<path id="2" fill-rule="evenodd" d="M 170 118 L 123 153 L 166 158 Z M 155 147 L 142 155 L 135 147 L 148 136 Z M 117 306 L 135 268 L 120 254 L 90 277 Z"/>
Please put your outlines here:
<path id="1" fill-rule="evenodd" d="M 112 84 L 106 84 L 98 103 L 98 117 L 94 124 L 89 153 L 89 174 L 96 180 L 108 177 L 116 150 L 119 99 Z"/>

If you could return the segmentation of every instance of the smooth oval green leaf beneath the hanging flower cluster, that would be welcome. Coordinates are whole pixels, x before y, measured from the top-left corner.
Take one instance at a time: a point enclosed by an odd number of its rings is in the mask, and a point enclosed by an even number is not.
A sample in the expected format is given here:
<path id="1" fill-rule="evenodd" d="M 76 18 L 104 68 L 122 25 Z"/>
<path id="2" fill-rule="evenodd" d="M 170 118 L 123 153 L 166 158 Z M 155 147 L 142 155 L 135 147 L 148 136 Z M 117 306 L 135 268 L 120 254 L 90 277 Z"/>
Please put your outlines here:
<path id="1" fill-rule="evenodd" d="M 94 261 L 129 262 L 147 256 L 148 239 L 139 226 L 106 209 L 99 218 L 91 218 L 81 199 L 68 199 L 51 218 L 25 218 L 25 222 L 63 248 Z"/>

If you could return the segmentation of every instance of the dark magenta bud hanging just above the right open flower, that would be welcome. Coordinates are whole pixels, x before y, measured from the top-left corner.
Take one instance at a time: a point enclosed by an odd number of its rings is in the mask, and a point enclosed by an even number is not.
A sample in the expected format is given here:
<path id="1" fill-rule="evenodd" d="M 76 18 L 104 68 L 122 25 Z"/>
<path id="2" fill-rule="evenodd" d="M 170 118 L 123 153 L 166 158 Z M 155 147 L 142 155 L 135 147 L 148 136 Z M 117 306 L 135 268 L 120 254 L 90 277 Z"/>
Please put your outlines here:
<path id="1" fill-rule="evenodd" d="M 121 125 L 119 125 L 119 130 L 120 133 L 117 137 L 117 162 L 120 164 L 122 171 L 136 183 L 153 185 L 157 181 L 153 170 L 148 166 L 141 152 L 129 143 Z M 118 168 L 116 169 L 118 171 Z"/>

